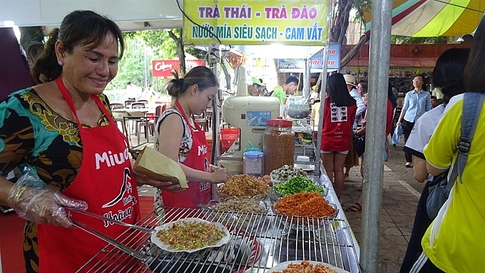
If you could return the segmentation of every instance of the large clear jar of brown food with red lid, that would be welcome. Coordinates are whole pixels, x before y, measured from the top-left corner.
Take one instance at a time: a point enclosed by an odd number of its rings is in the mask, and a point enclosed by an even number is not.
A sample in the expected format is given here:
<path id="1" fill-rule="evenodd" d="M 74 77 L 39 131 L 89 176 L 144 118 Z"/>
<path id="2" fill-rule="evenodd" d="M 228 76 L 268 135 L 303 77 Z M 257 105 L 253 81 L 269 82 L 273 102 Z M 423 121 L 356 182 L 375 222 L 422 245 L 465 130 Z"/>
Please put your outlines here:
<path id="1" fill-rule="evenodd" d="M 295 133 L 292 124 L 291 120 L 267 120 L 262 143 L 265 174 L 269 175 L 272 170 L 295 163 Z"/>

